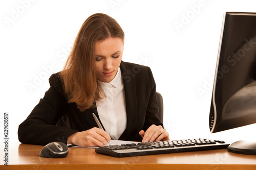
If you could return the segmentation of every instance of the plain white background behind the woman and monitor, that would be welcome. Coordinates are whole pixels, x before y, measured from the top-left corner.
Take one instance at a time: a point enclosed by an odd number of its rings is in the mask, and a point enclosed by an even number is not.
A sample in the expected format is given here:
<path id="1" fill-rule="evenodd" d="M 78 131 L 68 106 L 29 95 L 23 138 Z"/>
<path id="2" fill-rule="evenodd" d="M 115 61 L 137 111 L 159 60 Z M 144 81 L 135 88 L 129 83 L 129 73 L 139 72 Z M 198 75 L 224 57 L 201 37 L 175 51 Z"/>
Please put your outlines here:
<path id="1" fill-rule="evenodd" d="M 1 1 L 0 134 L 8 112 L 10 141 L 18 141 L 18 125 L 43 98 L 50 75 L 62 69 L 83 21 L 105 13 L 125 32 L 123 61 L 151 67 L 170 139 L 253 138 L 255 125 L 210 134 L 208 116 L 223 14 L 256 12 L 255 5 L 254 0 Z"/>

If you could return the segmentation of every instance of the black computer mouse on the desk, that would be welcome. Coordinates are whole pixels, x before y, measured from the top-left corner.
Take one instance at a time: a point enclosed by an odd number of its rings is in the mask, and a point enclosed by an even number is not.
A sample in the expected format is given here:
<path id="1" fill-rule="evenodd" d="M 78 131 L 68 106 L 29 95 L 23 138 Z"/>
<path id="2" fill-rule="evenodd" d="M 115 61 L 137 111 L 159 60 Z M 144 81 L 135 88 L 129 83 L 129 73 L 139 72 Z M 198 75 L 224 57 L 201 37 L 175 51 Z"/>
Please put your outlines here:
<path id="1" fill-rule="evenodd" d="M 65 158 L 68 156 L 69 147 L 62 142 L 51 142 L 45 145 L 39 153 L 40 157 Z"/>

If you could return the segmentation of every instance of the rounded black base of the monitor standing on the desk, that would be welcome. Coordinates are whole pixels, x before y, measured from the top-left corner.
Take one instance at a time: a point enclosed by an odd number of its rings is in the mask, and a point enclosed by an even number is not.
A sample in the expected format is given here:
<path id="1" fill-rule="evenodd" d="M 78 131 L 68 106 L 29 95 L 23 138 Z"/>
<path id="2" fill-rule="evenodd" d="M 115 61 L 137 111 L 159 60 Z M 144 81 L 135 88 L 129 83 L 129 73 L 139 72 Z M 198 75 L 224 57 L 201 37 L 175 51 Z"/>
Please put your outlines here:
<path id="1" fill-rule="evenodd" d="M 239 140 L 227 147 L 228 152 L 246 155 L 256 155 L 256 142 Z"/>

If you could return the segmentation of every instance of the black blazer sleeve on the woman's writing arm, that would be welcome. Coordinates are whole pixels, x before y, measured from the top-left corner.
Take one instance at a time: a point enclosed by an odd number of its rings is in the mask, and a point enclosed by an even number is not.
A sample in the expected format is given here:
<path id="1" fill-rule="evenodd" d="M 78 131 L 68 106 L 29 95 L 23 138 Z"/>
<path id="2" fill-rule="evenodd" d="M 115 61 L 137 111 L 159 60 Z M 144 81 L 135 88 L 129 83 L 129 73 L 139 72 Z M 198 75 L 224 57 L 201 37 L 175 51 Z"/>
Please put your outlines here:
<path id="1" fill-rule="evenodd" d="M 42 145 L 53 141 L 67 143 L 68 137 L 78 131 L 55 126 L 58 119 L 65 114 L 66 105 L 65 98 L 51 85 L 44 98 L 40 99 L 27 119 L 19 125 L 19 141 Z"/>

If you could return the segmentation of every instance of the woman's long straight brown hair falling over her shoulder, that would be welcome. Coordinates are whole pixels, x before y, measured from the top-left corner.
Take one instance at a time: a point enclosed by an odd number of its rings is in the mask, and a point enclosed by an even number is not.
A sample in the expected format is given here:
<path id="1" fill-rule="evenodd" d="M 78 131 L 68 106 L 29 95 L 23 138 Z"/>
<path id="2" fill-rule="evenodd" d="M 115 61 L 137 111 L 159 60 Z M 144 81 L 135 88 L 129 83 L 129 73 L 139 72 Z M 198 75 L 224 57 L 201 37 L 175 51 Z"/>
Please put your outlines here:
<path id="1" fill-rule="evenodd" d="M 75 102 L 81 111 L 93 107 L 95 101 L 101 99 L 102 90 L 95 71 L 95 44 L 109 37 L 119 37 L 124 41 L 124 32 L 114 18 L 101 13 L 88 17 L 60 73 L 68 102 Z"/>

